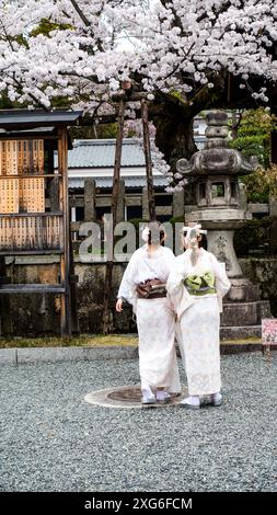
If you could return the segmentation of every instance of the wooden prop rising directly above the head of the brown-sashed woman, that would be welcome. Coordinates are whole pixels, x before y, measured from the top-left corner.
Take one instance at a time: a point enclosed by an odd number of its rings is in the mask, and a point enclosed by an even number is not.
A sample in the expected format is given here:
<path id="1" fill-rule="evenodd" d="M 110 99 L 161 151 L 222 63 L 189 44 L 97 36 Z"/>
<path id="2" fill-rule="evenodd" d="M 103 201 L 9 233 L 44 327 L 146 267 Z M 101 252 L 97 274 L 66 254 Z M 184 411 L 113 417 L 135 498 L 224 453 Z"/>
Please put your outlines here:
<path id="1" fill-rule="evenodd" d="M 146 169 L 147 169 L 149 217 L 150 217 L 150 220 L 155 220 L 153 173 L 152 173 L 152 161 L 151 161 L 151 149 L 150 149 L 149 122 L 148 122 L 148 104 L 145 99 L 141 100 L 141 119 L 142 119 L 142 128 L 143 128 L 143 147 L 145 147 Z"/>

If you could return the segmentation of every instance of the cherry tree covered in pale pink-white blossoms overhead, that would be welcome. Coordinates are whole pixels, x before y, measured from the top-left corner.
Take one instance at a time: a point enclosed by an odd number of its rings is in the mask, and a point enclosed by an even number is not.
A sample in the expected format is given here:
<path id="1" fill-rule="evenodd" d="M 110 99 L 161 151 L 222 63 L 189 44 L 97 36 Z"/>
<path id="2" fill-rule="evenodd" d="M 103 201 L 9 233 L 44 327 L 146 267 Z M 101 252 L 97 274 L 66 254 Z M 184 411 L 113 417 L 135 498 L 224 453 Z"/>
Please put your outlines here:
<path id="1" fill-rule="evenodd" d="M 114 117 L 131 79 L 174 170 L 201 110 L 276 108 L 276 0 L 0 0 L 0 94 L 43 108 L 67 99 L 94 123 Z"/>

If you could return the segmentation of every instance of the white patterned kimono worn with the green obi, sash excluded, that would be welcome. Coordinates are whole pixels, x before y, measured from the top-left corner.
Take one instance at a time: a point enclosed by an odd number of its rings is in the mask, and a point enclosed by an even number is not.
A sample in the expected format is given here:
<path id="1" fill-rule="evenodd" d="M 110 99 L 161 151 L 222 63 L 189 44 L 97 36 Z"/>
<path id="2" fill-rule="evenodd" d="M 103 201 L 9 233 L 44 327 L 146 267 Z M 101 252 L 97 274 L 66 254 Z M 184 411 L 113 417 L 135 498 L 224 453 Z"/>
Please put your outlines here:
<path id="1" fill-rule="evenodd" d="M 194 266 L 191 253 L 192 250 L 188 249 L 176 258 L 168 279 L 168 293 L 180 320 L 180 345 L 185 362 L 188 393 L 204 396 L 221 389 L 219 313 L 222 311 L 222 297 L 231 285 L 224 267 L 213 254 L 199 249 L 199 256 Z M 207 272 L 215 276 L 216 294 L 189 295 L 184 279 Z"/>

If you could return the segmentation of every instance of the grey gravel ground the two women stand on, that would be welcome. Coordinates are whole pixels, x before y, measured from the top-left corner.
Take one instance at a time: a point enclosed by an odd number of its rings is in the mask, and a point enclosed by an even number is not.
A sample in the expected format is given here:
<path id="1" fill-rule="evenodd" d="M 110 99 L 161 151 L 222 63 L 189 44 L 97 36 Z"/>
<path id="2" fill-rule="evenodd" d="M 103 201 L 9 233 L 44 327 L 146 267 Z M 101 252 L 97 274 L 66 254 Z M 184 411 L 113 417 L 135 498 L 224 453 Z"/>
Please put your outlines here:
<path id="1" fill-rule="evenodd" d="M 2 365 L 0 491 L 276 491 L 277 353 L 221 363 L 224 403 L 198 412 L 83 400 L 137 384 L 137 360 Z"/>

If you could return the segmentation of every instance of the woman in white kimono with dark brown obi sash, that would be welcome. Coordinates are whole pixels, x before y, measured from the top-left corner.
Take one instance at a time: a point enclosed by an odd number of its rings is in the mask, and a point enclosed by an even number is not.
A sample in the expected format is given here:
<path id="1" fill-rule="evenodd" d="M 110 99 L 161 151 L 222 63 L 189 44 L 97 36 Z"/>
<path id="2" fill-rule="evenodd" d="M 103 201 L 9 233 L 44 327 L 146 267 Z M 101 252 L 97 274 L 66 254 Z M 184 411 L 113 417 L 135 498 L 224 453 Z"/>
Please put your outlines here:
<path id="1" fill-rule="evenodd" d="M 139 335 L 139 373 L 142 403 L 168 402 L 171 393 L 181 392 L 174 344 L 175 313 L 166 298 L 165 284 L 174 267 L 175 256 L 162 247 L 164 230 L 158 228 L 158 241 L 149 227 L 142 231 L 146 245 L 134 252 L 118 291 L 116 310 L 123 310 L 123 299 L 132 305 L 137 317 Z M 149 297 L 141 296 L 141 286 L 159 279 L 158 287 Z M 159 286 L 159 285 L 158 285 Z"/>

